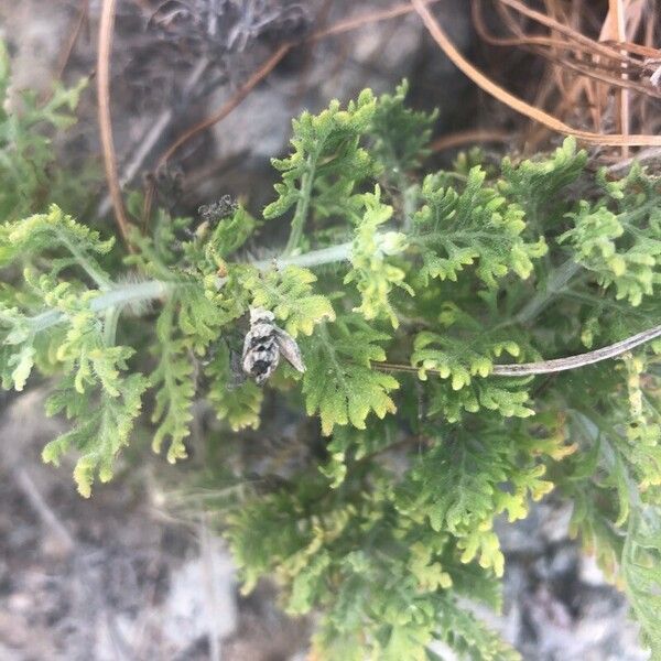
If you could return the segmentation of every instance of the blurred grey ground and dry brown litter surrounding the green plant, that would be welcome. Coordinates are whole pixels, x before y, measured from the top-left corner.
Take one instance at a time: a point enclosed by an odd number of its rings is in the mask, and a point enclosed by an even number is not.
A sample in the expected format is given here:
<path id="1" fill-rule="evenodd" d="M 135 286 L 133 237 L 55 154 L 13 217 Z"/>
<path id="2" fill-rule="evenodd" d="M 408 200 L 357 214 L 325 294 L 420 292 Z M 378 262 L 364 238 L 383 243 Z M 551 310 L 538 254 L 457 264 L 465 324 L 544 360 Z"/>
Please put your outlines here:
<path id="1" fill-rule="evenodd" d="M 47 98 L 56 82 L 90 78 L 56 148 L 85 189 L 79 217 L 112 230 L 95 91 L 102 4 L 0 0 L 0 39 L 18 109 L 22 89 Z M 660 132 L 655 0 L 443 0 L 430 9 L 473 65 L 534 108 L 583 131 Z M 365 87 L 392 91 L 403 78 L 413 107 L 440 109 L 430 167 L 476 144 L 497 158 L 561 140 L 484 93 L 395 0 L 118 0 L 110 72 L 119 183 L 181 214 L 225 194 L 259 213 L 293 117 Z M 614 163 L 633 152 L 596 145 L 590 154 Z M 659 160 L 659 150 L 641 154 Z M 63 425 L 43 416 L 46 392 L 0 400 L 0 661 L 306 659 L 314 622 L 284 617 L 272 585 L 239 594 L 213 516 L 189 491 L 205 438 L 229 435 L 209 426 L 204 403 L 191 462 L 166 465 L 139 433 L 124 469 L 86 501 L 71 466 L 41 464 Z M 243 440 L 258 456 L 286 446 L 288 434 L 271 411 Z M 570 539 L 570 514 L 550 498 L 501 527 L 505 614 L 485 617 L 525 659 L 646 659 L 624 597 Z"/>

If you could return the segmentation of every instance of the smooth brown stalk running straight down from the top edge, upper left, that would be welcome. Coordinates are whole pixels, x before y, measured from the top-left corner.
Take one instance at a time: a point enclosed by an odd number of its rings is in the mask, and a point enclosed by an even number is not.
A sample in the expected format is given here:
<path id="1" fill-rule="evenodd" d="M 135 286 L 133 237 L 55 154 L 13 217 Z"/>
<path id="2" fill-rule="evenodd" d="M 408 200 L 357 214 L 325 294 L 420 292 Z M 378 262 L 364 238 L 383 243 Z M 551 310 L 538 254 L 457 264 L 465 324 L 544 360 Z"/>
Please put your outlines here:
<path id="1" fill-rule="evenodd" d="M 97 97 L 99 110 L 99 131 L 101 134 L 101 147 L 104 150 L 104 164 L 106 166 L 106 180 L 110 189 L 115 218 L 119 231 L 129 247 L 129 224 L 127 220 L 121 187 L 117 175 L 117 155 L 112 141 L 112 123 L 110 119 L 110 56 L 112 53 L 112 28 L 115 23 L 116 0 L 104 0 L 101 7 L 101 21 L 99 23 L 99 45 L 97 57 Z"/>

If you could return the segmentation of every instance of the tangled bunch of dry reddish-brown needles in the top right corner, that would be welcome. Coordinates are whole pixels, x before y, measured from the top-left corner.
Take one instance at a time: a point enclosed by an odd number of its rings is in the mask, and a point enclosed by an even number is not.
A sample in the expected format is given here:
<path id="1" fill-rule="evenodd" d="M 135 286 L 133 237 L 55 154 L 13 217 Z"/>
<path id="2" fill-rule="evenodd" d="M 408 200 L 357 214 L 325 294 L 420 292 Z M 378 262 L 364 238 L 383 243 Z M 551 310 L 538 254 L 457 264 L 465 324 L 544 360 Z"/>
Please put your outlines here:
<path id="1" fill-rule="evenodd" d="M 652 99 L 661 97 L 661 88 L 653 76 L 661 51 L 652 47 L 657 10 L 647 0 L 609 0 L 606 15 L 599 13 L 599 4 L 583 0 L 543 0 L 543 11 L 521 0 L 491 2 L 510 34 L 494 35 L 483 19 L 483 1 L 473 0 L 474 24 L 480 37 L 499 47 L 523 48 L 549 63 L 550 75 L 542 77 L 535 108 L 549 108 L 550 115 L 578 124 L 582 131 L 592 124 L 589 132 L 598 136 L 615 122 L 621 137 L 617 142 L 620 158 L 633 144 L 629 133 L 648 136 L 646 144 L 655 143 L 658 112 L 653 112 Z M 542 32 L 531 32 L 531 24 Z M 641 32 L 644 43 L 633 43 Z M 540 130 L 542 124 L 531 119 L 537 128 L 533 126 L 527 145 L 534 150 L 549 130 L 555 129 Z M 578 134 L 576 130 L 574 134 Z"/>

